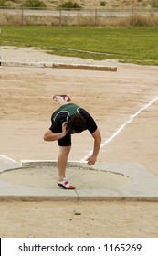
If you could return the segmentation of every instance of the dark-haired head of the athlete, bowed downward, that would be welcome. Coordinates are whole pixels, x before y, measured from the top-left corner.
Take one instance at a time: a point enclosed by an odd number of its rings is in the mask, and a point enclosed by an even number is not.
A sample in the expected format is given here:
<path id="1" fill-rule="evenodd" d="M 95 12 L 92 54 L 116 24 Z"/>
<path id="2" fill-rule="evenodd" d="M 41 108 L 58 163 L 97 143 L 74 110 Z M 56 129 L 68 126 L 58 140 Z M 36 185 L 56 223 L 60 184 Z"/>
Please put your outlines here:
<path id="1" fill-rule="evenodd" d="M 86 120 L 81 114 L 75 113 L 69 116 L 67 123 L 67 131 L 73 133 L 81 133 L 86 129 Z"/>

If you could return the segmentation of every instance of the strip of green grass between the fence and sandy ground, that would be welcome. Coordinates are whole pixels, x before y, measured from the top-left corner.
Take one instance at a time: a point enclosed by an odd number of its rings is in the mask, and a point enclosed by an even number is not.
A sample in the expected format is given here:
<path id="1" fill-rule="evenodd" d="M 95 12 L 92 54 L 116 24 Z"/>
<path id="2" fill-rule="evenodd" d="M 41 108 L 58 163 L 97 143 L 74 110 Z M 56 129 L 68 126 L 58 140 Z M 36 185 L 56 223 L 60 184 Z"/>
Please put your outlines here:
<path id="1" fill-rule="evenodd" d="M 158 27 L 1 27 L 2 46 L 34 47 L 83 59 L 158 65 Z"/>

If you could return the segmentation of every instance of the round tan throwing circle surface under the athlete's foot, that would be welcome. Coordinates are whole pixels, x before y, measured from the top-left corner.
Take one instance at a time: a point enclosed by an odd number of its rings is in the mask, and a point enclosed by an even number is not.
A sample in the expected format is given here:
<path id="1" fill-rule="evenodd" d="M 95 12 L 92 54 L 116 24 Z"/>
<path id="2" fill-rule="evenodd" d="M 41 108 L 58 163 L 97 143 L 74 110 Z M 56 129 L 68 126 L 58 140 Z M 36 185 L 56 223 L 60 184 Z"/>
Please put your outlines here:
<path id="1" fill-rule="evenodd" d="M 110 171 L 93 170 L 69 166 L 68 180 L 77 189 L 108 189 L 131 183 L 128 176 Z M 58 168 L 56 166 L 30 166 L 10 169 L 0 174 L 0 181 L 21 187 L 59 188 L 57 186 Z"/>

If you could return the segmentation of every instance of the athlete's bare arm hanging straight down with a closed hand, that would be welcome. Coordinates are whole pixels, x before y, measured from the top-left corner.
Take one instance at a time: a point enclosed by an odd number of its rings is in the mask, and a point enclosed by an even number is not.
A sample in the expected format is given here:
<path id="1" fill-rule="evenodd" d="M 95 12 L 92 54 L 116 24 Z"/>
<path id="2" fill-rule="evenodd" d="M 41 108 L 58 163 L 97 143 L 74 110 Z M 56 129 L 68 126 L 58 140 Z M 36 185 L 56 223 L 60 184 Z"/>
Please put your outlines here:
<path id="1" fill-rule="evenodd" d="M 99 151 L 100 151 L 100 143 L 101 143 L 101 135 L 100 135 L 100 131 L 98 128 L 94 133 L 91 133 L 91 136 L 94 139 L 94 146 L 93 146 L 92 155 L 90 155 L 90 157 L 87 159 L 88 165 L 95 164 L 95 162 L 97 160 L 97 155 L 99 154 Z"/>

